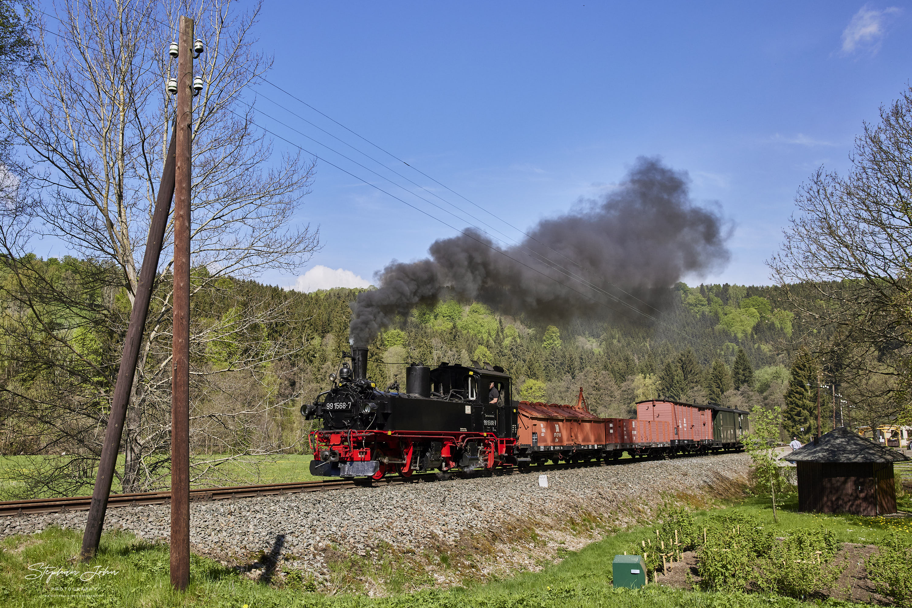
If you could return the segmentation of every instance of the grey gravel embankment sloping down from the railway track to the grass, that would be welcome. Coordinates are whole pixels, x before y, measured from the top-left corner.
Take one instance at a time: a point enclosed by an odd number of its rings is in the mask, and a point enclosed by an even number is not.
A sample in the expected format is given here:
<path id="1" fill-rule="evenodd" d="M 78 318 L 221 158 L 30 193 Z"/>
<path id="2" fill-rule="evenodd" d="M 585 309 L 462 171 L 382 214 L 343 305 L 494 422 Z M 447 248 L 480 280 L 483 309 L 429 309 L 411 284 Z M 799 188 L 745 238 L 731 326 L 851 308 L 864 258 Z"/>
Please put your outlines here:
<path id="1" fill-rule="evenodd" d="M 191 505 L 192 550 L 251 578 L 291 575 L 316 586 L 342 579 L 383 593 L 378 565 L 408 564 L 409 587 L 537 570 L 606 533 L 648 520 L 668 500 L 730 493 L 744 454 L 621 461 L 539 473 L 337 489 Z M 119 507 L 105 529 L 167 541 L 168 505 Z M 85 511 L 6 517 L 0 536 L 80 529 Z M 382 577 L 381 577 L 382 578 Z"/>

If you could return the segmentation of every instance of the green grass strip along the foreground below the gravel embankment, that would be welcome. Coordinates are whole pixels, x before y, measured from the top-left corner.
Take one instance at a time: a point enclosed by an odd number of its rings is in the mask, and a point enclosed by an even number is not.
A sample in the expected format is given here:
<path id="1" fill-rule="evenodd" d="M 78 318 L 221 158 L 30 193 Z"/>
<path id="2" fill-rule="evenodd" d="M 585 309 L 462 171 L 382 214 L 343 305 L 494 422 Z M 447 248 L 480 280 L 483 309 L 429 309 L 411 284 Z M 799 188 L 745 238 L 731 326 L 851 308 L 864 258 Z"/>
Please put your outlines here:
<path id="1" fill-rule="evenodd" d="M 737 507 L 745 508 L 756 507 Z M 783 531 L 800 523 L 798 519 L 783 523 Z M 876 531 L 885 533 L 889 528 L 876 528 Z M 648 528 L 637 528 L 592 543 L 581 551 L 565 551 L 562 562 L 549 565 L 541 572 L 523 572 L 509 579 L 450 590 L 426 589 L 418 593 L 370 598 L 363 594 L 314 593 L 314 583 L 300 574 L 280 580 L 275 576 L 277 573 L 268 572 L 268 569 L 265 582 L 254 582 L 233 568 L 198 556 L 192 558 L 190 588 L 185 593 L 174 593 L 170 588 L 166 545 L 140 541 L 129 533 L 106 533 L 98 558 L 87 567 L 75 562 L 80 542 L 78 531 L 49 529 L 0 543 L 0 598 L 4 607 L 23 608 L 787 608 L 809 605 L 760 594 L 702 593 L 655 586 L 635 592 L 613 589 L 611 562 L 614 556 L 649 533 Z M 387 575 L 396 578 L 420 576 L 420 572 L 410 572 L 407 563 L 399 563 L 396 568 L 404 572 L 387 572 Z M 824 605 L 851 604 L 827 600 Z"/>

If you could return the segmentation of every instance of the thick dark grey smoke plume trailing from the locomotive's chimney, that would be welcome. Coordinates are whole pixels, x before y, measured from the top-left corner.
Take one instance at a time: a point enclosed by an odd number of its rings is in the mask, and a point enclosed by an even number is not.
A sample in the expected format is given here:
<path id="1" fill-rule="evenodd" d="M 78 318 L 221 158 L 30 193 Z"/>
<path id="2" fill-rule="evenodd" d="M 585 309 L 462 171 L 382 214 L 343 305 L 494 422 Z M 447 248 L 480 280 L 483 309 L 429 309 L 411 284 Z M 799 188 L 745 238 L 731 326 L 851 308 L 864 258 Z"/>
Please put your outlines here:
<path id="1" fill-rule="evenodd" d="M 540 321 L 639 316 L 625 304 L 656 314 L 684 274 L 729 261 L 729 223 L 695 205 L 687 173 L 658 159 L 637 159 L 617 189 L 584 202 L 583 211 L 539 222 L 516 247 L 501 249 L 468 229 L 430 245 L 430 259 L 393 261 L 379 273 L 379 288 L 352 304 L 352 343 L 368 345 L 396 315 L 434 304 L 444 290 Z"/>

